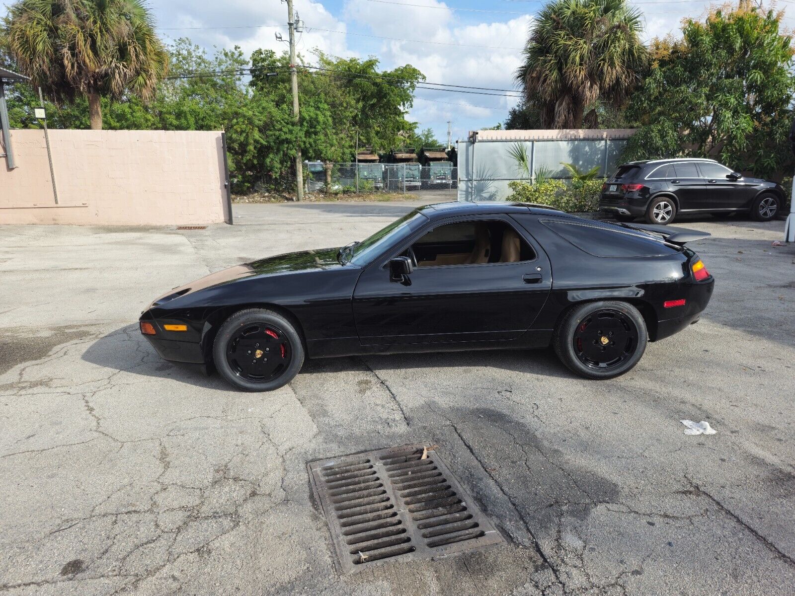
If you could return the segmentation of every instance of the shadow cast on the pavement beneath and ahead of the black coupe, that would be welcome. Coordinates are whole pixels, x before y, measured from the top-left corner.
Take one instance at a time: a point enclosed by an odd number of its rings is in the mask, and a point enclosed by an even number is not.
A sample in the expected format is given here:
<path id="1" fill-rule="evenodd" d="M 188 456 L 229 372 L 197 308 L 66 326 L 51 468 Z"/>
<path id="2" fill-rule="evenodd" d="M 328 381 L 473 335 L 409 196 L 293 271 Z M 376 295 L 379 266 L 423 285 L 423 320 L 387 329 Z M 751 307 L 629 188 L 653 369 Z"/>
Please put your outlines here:
<path id="1" fill-rule="evenodd" d="M 205 389 L 229 390 L 217 373 L 206 376 L 200 366 L 167 362 L 138 331 L 126 325 L 103 335 L 83 353 L 83 361 L 143 377 L 173 379 Z M 299 374 L 356 370 L 427 370 L 492 368 L 545 377 L 575 377 L 552 350 L 471 350 L 423 354 L 370 354 L 341 358 L 313 358 L 304 361 Z"/>

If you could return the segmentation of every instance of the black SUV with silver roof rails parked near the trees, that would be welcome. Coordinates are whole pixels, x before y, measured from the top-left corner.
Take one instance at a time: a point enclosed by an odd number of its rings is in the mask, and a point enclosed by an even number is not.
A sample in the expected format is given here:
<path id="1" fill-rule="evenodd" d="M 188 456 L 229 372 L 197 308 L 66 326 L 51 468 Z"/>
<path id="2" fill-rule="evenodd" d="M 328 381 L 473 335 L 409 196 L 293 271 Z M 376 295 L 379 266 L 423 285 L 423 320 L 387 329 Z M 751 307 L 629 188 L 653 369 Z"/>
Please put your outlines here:
<path id="1" fill-rule="evenodd" d="M 671 223 L 678 213 L 750 212 L 760 222 L 781 211 L 784 191 L 776 183 L 746 178 L 706 159 L 632 161 L 602 186 L 599 209 L 622 221 L 644 217 Z"/>

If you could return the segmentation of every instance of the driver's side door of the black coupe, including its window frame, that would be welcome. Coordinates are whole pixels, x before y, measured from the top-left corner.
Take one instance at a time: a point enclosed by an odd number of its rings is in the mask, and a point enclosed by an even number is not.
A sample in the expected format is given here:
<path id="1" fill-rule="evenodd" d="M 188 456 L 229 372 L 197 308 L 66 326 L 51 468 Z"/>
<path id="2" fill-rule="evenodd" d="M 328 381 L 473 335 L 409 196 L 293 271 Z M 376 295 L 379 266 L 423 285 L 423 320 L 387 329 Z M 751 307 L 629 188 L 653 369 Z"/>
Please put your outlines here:
<path id="1" fill-rule="evenodd" d="M 511 257 L 504 245 L 514 239 Z M 413 273 L 391 280 L 390 258 L 412 254 Z M 362 273 L 356 329 L 367 346 L 514 339 L 533 324 L 551 287 L 549 258 L 506 216 L 444 219 Z"/>

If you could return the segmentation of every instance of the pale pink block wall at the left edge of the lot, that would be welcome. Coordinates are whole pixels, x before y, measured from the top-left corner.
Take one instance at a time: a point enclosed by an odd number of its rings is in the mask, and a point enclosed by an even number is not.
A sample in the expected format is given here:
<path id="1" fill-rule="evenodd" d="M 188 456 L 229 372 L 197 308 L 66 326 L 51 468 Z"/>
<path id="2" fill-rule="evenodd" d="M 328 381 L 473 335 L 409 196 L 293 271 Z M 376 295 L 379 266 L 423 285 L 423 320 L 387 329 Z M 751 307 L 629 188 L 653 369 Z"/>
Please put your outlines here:
<path id="1" fill-rule="evenodd" d="M 12 130 L 0 158 L 0 223 L 204 225 L 228 219 L 220 132 Z"/>

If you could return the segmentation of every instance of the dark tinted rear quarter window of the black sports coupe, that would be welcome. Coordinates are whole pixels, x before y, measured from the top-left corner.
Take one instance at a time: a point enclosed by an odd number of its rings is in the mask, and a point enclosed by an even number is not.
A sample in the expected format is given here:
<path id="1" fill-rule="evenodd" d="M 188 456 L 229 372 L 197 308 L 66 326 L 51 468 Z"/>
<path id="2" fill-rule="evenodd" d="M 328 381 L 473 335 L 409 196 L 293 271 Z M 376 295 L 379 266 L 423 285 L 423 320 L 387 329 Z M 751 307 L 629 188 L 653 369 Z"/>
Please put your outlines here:
<path id="1" fill-rule="evenodd" d="M 612 230 L 587 223 L 541 222 L 578 249 L 594 257 L 657 257 L 677 253 L 677 249 L 631 230 Z"/>

